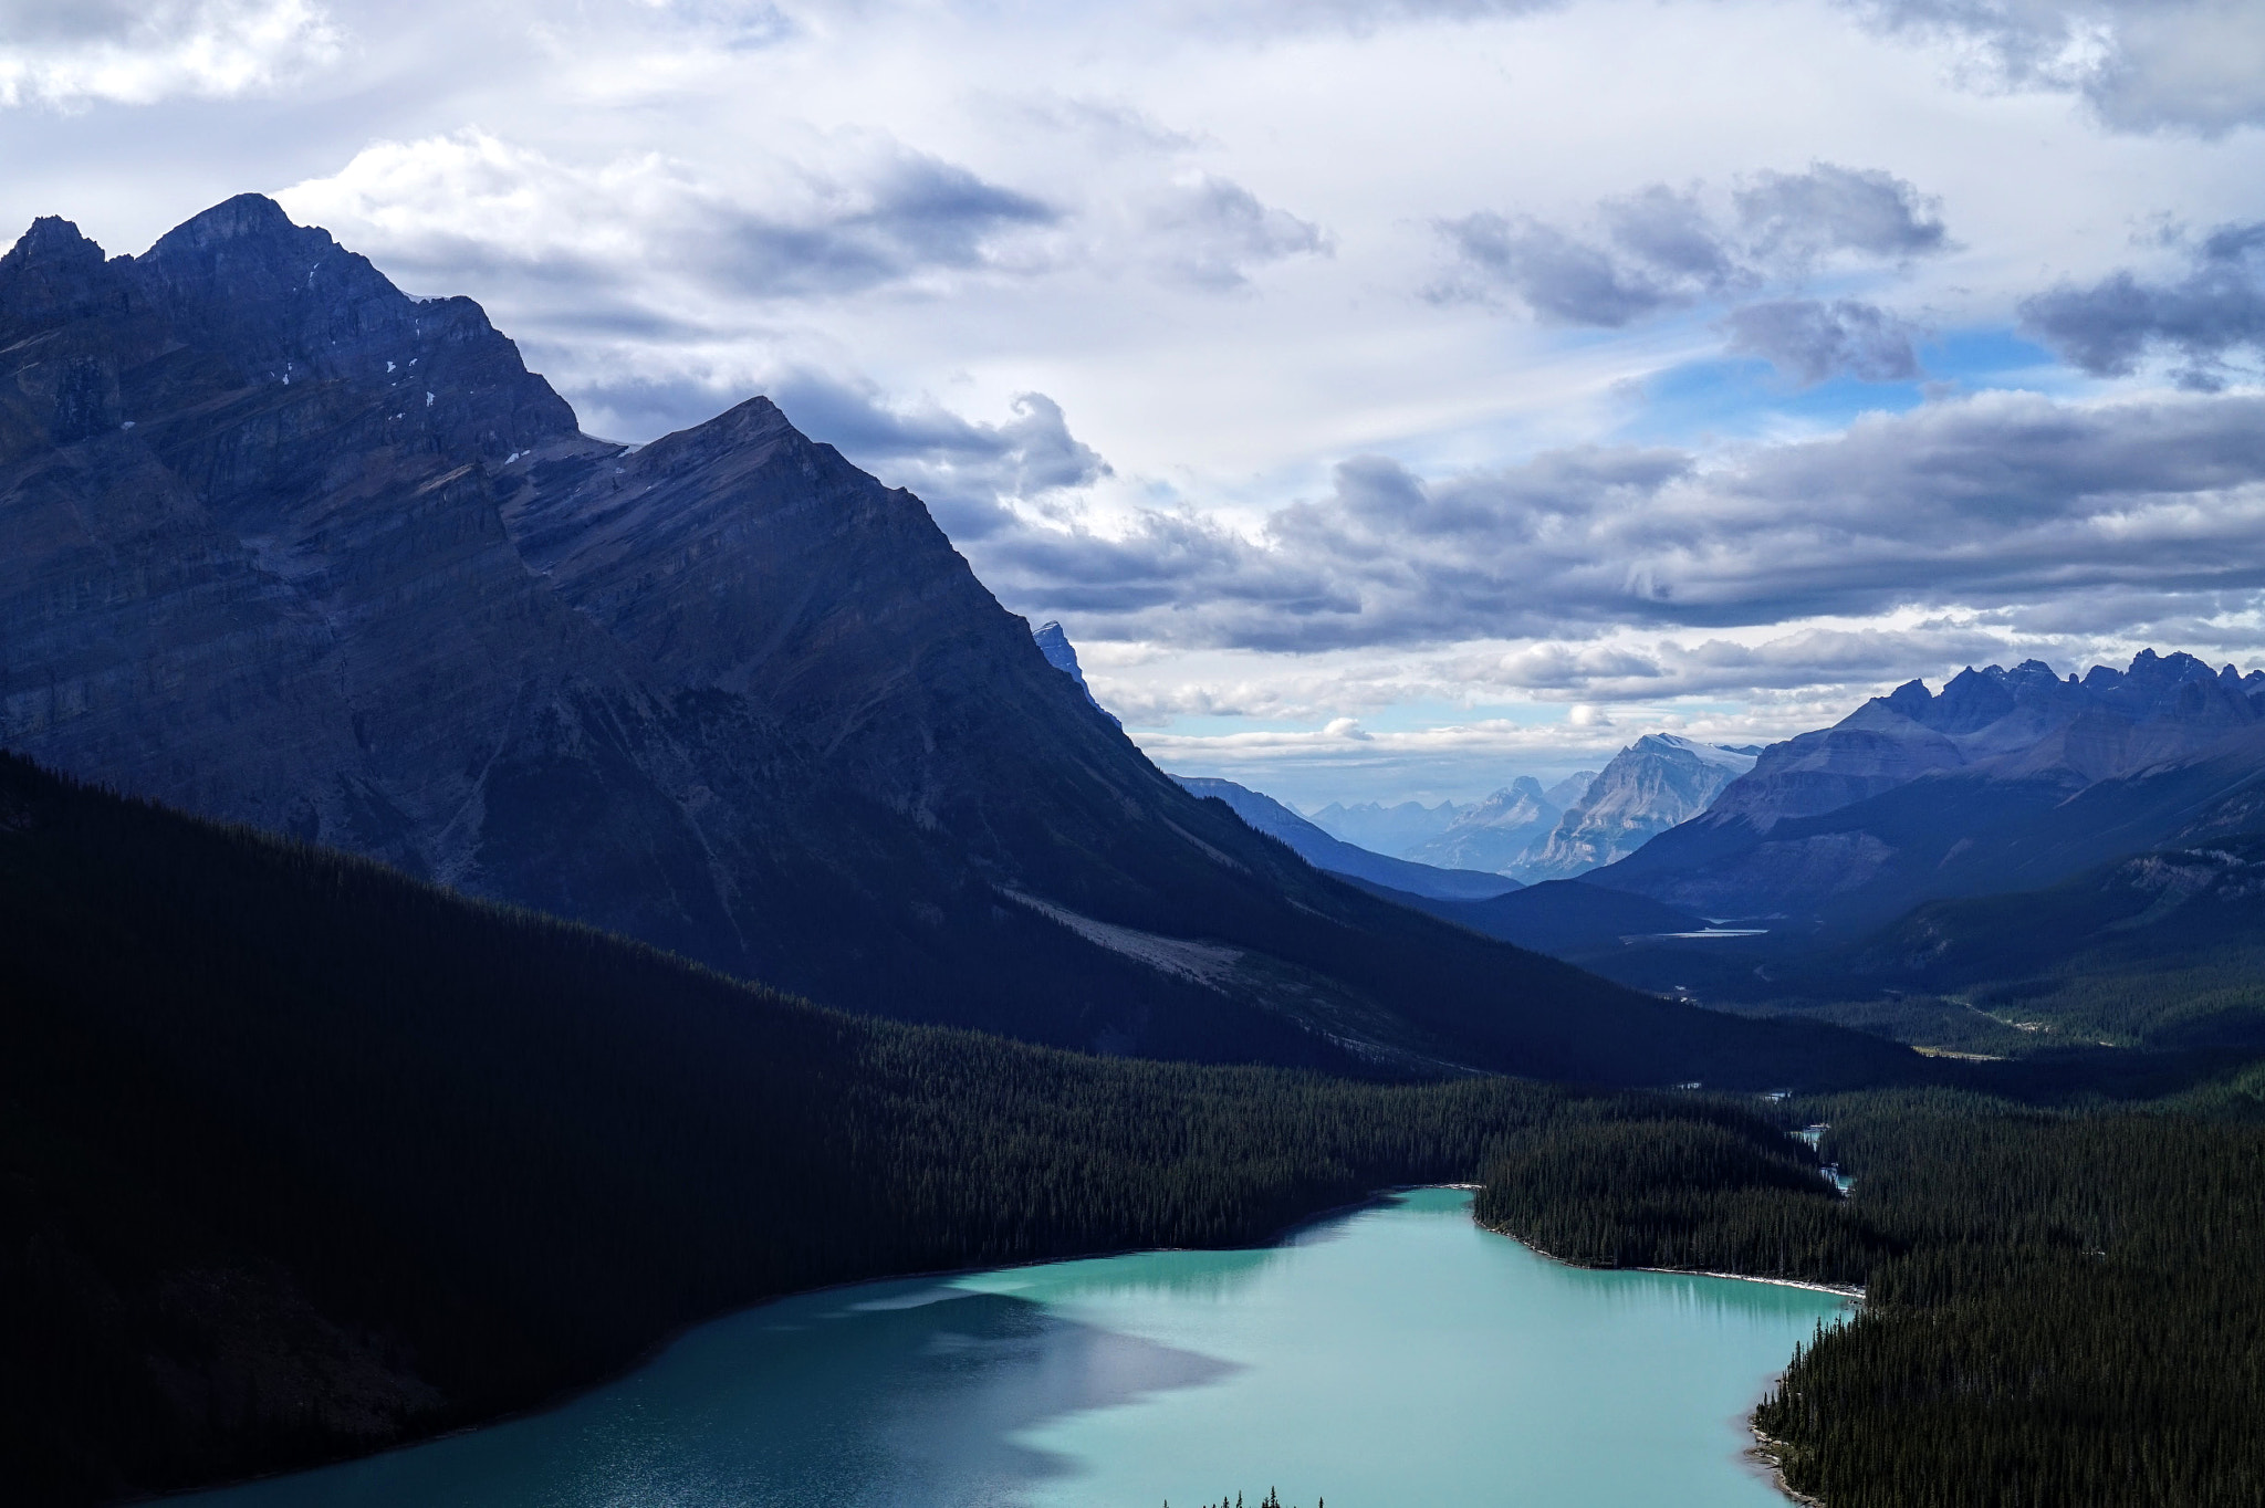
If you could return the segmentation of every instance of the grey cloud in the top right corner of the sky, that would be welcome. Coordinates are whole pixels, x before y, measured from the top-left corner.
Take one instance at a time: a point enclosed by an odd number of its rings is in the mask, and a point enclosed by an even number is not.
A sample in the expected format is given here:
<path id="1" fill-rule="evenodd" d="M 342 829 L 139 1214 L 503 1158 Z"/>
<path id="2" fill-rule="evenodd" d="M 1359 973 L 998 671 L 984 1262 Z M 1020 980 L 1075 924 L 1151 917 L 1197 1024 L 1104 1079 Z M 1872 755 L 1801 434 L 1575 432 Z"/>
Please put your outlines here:
<path id="1" fill-rule="evenodd" d="M 2000 88 L 2082 95 L 2122 131 L 2265 122 L 2256 0 L 1844 0 L 1889 32 L 1980 48 Z"/>

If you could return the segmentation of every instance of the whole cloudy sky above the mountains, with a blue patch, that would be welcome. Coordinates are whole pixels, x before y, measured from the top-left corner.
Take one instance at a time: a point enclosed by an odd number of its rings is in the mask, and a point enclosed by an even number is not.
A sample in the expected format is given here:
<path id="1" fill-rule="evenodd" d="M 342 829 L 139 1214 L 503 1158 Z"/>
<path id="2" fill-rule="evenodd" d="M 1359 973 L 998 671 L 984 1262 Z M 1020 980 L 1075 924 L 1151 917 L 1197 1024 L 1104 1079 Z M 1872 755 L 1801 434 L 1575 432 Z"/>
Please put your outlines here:
<path id="1" fill-rule="evenodd" d="M 1305 806 L 2265 663 L 2258 0 L 0 0 L 0 161 L 768 392 Z"/>

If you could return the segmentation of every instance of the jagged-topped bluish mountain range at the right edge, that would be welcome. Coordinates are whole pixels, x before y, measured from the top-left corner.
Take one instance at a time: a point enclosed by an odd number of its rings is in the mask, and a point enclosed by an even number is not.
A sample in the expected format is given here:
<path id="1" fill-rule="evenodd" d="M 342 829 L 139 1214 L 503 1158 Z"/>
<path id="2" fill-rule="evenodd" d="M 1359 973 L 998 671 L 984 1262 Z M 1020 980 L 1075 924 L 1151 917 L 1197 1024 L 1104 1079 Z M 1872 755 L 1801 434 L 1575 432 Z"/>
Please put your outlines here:
<path id="1" fill-rule="evenodd" d="M 2143 650 L 2082 679 L 2027 661 L 1918 682 L 1771 745 L 1699 820 L 1590 876 L 1792 931 L 2036 890 L 2265 817 L 2265 675 Z"/>

